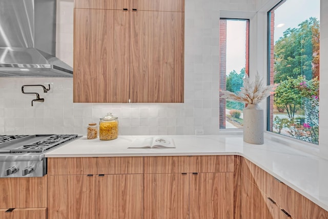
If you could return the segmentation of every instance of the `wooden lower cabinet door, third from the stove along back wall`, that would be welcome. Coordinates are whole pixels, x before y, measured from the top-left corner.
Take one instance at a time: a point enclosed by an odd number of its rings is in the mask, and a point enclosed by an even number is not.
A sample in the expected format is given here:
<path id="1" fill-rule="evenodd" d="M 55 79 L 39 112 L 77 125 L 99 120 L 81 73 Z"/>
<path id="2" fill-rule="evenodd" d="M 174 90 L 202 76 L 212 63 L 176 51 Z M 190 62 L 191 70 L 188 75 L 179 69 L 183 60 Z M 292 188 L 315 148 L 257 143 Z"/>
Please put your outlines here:
<path id="1" fill-rule="evenodd" d="M 189 218 L 189 174 L 144 174 L 144 219 Z"/>

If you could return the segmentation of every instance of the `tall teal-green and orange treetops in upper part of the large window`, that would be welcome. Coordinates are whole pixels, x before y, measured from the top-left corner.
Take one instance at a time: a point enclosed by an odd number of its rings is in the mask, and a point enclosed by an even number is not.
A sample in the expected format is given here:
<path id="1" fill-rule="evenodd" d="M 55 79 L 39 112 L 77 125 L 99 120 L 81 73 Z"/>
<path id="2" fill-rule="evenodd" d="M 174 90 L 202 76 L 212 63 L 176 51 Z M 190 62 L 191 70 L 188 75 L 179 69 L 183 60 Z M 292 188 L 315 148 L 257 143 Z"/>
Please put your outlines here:
<path id="1" fill-rule="evenodd" d="M 310 17 L 298 28 L 283 32 L 274 47 L 274 82 L 304 75 L 310 80 L 319 74 L 319 28 L 317 18 Z"/>

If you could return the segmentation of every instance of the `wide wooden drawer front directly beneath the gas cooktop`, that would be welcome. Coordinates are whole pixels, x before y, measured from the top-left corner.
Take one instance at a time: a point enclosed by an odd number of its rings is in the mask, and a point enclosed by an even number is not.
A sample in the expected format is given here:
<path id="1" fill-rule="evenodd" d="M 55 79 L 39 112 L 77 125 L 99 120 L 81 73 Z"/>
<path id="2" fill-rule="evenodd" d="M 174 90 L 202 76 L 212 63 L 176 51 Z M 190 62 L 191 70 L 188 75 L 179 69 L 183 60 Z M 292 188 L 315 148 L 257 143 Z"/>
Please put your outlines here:
<path id="1" fill-rule="evenodd" d="M 0 208 L 47 207 L 47 175 L 1 178 L 0 193 Z"/>

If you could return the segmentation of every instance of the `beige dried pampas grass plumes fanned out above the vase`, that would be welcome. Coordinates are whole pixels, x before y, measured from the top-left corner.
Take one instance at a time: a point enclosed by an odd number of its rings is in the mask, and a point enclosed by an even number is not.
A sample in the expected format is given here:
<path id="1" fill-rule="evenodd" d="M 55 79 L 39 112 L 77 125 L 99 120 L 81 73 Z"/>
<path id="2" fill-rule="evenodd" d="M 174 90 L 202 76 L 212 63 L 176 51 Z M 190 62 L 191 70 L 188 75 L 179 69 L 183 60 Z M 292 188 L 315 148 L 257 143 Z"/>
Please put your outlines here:
<path id="1" fill-rule="evenodd" d="M 230 99 L 244 104 L 258 104 L 270 95 L 274 85 L 263 86 L 263 79 L 258 73 L 255 75 L 255 81 L 250 82 L 250 78 L 246 76 L 243 87 L 239 92 L 233 93 L 228 90 L 221 90 L 220 98 Z"/>

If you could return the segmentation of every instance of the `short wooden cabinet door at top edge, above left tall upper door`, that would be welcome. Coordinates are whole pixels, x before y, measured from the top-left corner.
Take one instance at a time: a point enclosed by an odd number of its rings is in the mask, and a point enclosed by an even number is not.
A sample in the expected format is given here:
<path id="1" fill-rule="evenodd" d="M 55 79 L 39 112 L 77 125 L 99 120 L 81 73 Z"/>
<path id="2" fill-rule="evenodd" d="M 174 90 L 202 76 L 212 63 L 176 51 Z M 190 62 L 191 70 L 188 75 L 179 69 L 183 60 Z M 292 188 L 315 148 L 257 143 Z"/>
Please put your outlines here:
<path id="1" fill-rule="evenodd" d="M 130 8 L 130 0 L 75 0 L 74 8 L 122 10 Z"/>

